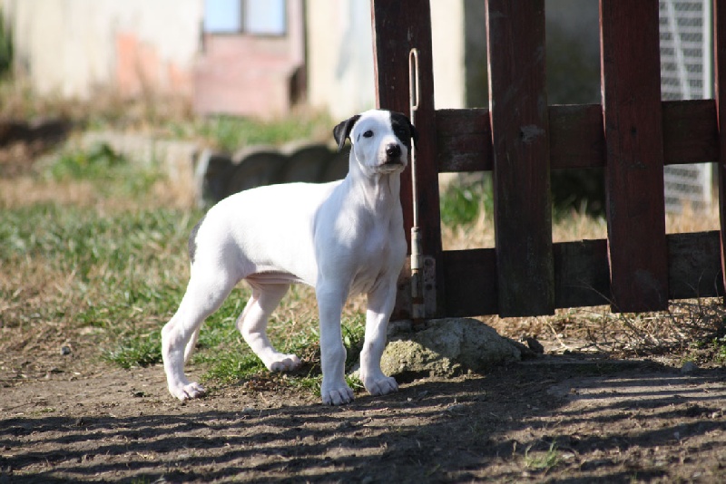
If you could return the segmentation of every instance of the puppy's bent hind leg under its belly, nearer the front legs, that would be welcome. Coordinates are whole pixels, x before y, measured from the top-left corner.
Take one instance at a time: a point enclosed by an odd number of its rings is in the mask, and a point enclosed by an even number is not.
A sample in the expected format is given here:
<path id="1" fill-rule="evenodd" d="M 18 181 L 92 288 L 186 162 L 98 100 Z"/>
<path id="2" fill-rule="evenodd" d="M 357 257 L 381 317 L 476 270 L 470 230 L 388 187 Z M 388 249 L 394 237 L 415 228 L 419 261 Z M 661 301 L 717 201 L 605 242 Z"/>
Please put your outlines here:
<path id="1" fill-rule="evenodd" d="M 295 370 L 301 363 L 300 359 L 295 354 L 275 350 L 267 336 L 268 318 L 288 292 L 289 284 L 250 283 L 250 286 L 252 296 L 237 320 L 237 329 L 270 372 Z"/>

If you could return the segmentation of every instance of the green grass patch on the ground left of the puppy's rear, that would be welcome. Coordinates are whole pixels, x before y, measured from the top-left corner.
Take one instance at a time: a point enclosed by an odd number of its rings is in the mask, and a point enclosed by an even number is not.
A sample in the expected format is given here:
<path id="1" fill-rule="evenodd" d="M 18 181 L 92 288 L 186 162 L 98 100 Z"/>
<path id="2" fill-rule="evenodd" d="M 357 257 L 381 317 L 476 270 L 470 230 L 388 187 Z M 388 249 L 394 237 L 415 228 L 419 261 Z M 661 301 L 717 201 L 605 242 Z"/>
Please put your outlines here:
<path id="1" fill-rule="evenodd" d="M 0 298 L 12 302 L 3 324 L 32 332 L 34 324 L 51 321 L 58 338 L 98 328 L 96 343 L 112 361 L 154 363 L 157 345 L 149 334 L 181 300 L 193 220 L 167 208 L 0 210 Z"/>

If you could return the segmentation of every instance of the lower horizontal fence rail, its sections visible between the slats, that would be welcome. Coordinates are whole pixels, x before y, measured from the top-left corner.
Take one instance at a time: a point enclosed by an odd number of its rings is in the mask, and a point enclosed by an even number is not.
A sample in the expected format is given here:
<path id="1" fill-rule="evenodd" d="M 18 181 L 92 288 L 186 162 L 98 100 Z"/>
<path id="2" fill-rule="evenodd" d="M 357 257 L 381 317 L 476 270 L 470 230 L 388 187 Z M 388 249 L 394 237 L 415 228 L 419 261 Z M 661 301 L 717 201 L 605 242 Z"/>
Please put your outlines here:
<path id="1" fill-rule="evenodd" d="M 669 299 L 724 295 L 717 230 L 669 234 Z M 554 306 L 612 305 L 607 240 L 553 244 Z M 494 248 L 443 252 L 446 316 L 498 315 Z M 615 307 L 614 309 L 618 309 Z"/>

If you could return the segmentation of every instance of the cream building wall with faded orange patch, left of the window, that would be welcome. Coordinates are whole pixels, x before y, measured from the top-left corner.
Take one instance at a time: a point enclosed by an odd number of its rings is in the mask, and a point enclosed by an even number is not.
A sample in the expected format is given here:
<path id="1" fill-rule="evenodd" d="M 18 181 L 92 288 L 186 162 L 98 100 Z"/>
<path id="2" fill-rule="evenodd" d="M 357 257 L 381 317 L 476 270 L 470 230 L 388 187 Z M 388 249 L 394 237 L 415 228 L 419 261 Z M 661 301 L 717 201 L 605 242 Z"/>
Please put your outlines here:
<path id="1" fill-rule="evenodd" d="M 41 94 L 115 86 L 190 94 L 203 0 L 3 0 L 15 56 Z"/>

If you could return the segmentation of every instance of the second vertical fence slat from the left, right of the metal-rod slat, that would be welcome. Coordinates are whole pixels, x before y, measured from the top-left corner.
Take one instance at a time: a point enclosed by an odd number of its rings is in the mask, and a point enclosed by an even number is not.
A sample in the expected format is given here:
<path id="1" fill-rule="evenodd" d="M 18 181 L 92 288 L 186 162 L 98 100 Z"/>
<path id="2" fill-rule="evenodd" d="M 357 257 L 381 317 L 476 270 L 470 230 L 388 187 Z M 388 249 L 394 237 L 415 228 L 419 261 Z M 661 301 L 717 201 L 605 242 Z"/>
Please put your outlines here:
<path id="1" fill-rule="evenodd" d="M 499 314 L 554 313 L 544 0 L 487 0 Z"/>

